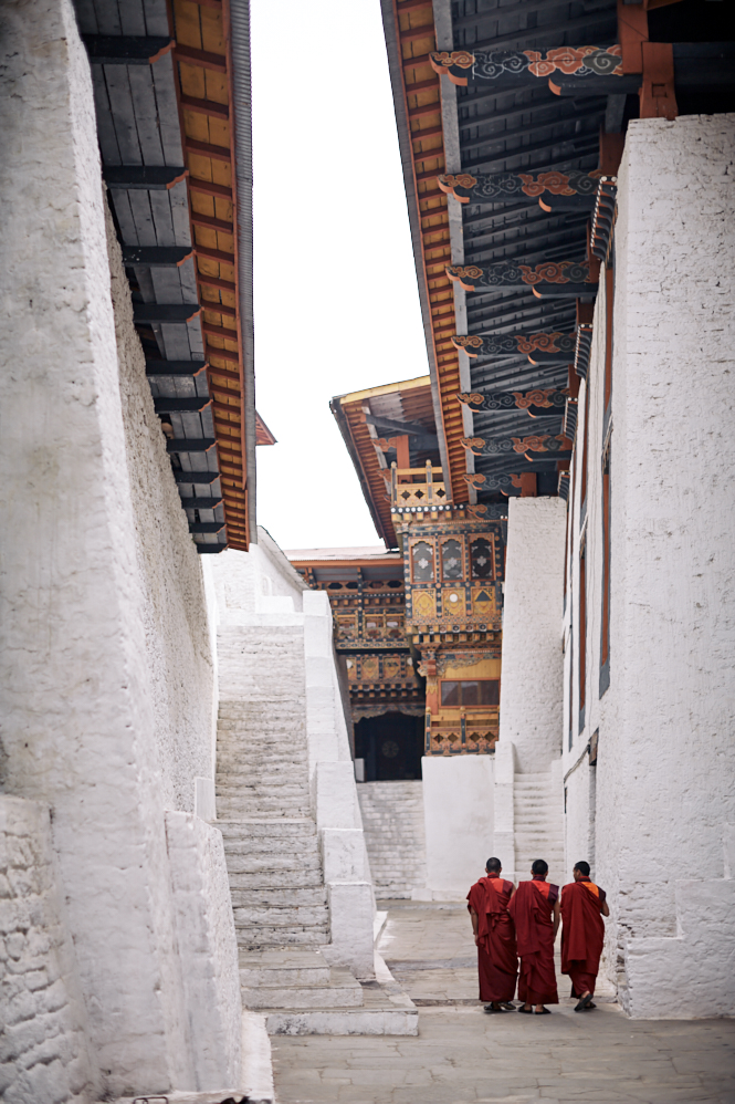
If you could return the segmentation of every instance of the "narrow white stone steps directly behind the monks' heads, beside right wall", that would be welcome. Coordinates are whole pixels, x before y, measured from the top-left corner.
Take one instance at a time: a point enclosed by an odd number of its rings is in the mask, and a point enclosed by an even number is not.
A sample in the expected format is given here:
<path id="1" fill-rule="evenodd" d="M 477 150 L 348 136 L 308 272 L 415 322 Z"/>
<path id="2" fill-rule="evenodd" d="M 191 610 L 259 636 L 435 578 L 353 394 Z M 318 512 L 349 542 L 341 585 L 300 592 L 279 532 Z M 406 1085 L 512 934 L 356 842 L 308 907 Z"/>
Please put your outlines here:
<path id="1" fill-rule="evenodd" d="M 516 877 L 531 878 L 535 858 L 548 863 L 548 882 L 561 885 L 564 877 L 564 810 L 558 783 L 550 772 L 515 774 L 513 820 Z"/>

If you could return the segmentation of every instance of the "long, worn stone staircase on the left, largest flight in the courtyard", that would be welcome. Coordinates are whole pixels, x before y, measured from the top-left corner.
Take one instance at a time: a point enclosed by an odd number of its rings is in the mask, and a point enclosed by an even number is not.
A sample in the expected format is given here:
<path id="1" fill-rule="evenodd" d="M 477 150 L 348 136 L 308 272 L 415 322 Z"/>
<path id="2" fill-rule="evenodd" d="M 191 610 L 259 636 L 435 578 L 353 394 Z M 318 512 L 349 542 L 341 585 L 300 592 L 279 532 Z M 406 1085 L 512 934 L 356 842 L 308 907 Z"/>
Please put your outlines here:
<path id="1" fill-rule="evenodd" d="M 327 891 L 296 695 L 222 701 L 217 762 L 243 1006 L 263 1013 L 269 1034 L 416 1034 L 417 1009 L 385 966 L 379 981 L 360 983 L 327 960 Z"/>

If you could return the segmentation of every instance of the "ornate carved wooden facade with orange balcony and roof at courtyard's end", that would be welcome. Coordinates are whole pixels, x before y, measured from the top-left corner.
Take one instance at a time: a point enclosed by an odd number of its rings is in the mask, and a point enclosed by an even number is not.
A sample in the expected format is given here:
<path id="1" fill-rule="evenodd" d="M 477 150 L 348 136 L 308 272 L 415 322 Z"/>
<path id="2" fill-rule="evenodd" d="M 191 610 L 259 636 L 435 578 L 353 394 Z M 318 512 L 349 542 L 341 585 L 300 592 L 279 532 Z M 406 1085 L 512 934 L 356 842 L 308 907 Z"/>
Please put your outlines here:
<path id="1" fill-rule="evenodd" d="M 309 584 L 329 593 L 337 648 L 349 656 L 356 716 L 366 701 L 398 700 L 390 671 L 406 691 L 395 644 L 378 635 L 390 616 L 398 622 L 391 632 L 402 636 L 402 663 L 421 678 L 423 753 L 487 753 L 498 732 L 505 507 L 451 501 L 427 378 L 342 395 L 332 408 L 372 514 L 400 549 L 388 598 L 364 581 L 367 565 L 359 566 L 350 595 L 345 593 L 350 584 L 336 580 L 334 569 L 330 581 L 324 563 L 319 567 L 291 553 Z M 377 436 L 381 429 L 392 435 L 386 451 Z M 380 482 L 369 478 L 376 467 Z M 357 566 L 357 558 L 351 563 Z"/>

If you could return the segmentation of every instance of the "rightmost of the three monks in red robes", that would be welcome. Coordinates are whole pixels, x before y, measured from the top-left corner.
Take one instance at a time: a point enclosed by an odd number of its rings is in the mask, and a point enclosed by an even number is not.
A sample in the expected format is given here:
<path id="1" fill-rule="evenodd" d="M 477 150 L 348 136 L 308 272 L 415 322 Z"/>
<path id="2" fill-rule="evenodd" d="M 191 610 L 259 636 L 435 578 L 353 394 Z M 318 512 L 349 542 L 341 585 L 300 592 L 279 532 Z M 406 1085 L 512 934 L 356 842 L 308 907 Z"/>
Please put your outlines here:
<path id="1" fill-rule="evenodd" d="M 589 863 L 577 863 L 574 882 L 561 891 L 561 972 L 571 978 L 575 1012 L 595 1008 L 592 997 L 605 940 L 603 916 L 610 915 L 605 889 L 590 882 Z"/>

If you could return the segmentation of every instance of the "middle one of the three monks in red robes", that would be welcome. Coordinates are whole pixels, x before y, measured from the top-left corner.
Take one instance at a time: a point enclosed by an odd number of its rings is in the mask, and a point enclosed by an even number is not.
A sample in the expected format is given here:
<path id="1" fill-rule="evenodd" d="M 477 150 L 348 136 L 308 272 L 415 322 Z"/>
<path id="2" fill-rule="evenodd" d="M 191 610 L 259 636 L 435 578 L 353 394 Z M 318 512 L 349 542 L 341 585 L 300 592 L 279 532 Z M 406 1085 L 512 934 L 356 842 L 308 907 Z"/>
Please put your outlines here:
<path id="1" fill-rule="evenodd" d="M 546 881 L 548 863 L 537 858 L 531 867 L 533 882 L 521 882 L 508 905 L 515 924 L 521 958 L 519 1012 L 548 1016 L 546 1004 L 558 1004 L 554 940 L 559 927 L 559 887 Z"/>

